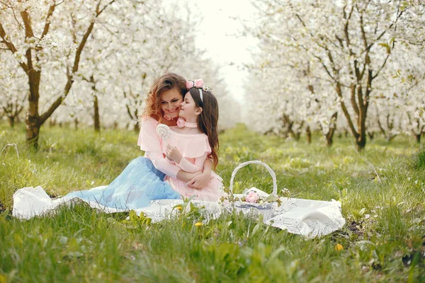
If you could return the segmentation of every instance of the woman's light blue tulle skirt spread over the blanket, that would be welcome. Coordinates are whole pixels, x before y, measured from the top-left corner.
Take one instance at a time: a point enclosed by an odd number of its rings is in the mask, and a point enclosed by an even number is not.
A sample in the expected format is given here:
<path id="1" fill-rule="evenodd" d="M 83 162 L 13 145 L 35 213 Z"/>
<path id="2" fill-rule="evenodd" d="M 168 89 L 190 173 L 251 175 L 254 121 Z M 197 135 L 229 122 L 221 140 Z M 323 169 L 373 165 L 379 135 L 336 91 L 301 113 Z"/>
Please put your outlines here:
<path id="1" fill-rule="evenodd" d="M 65 197 L 79 197 L 116 209 L 147 207 L 151 200 L 180 199 L 181 195 L 164 182 L 165 174 L 146 157 L 133 159 L 124 171 L 106 187 L 70 192 Z"/>

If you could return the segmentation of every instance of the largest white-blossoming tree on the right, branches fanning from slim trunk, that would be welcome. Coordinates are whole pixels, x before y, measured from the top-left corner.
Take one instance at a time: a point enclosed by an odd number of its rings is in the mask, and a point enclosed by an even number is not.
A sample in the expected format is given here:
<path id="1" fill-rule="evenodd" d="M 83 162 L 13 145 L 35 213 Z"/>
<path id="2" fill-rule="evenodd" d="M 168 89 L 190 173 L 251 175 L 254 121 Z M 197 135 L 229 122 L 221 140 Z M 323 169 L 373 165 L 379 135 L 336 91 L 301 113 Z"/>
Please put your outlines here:
<path id="1" fill-rule="evenodd" d="M 370 100 L 378 95 L 374 83 L 385 73 L 398 44 L 395 31 L 409 21 L 405 12 L 410 7 L 402 1 L 368 0 L 266 0 L 254 5 L 261 31 L 251 28 L 271 46 L 266 52 L 289 51 L 289 62 L 295 62 L 291 69 L 298 71 L 305 69 L 302 58 L 308 60 L 312 76 L 329 83 L 325 93 L 334 93 L 340 116 L 363 149 Z"/>

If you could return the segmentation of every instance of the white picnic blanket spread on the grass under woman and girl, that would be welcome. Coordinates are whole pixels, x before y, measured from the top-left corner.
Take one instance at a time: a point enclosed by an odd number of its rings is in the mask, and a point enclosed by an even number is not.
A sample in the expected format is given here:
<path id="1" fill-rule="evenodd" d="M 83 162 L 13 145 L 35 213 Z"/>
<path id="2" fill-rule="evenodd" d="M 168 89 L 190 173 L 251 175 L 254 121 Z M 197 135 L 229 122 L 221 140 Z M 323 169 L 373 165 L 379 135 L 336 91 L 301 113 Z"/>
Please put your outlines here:
<path id="1" fill-rule="evenodd" d="M 98 187 L 102 188 L 104 186 Z M 258 190 L 258 189 L 256 189 Z M 261 194 L 266 194 L 258 190 Z M 267 194 L 266 194 L 267 195 Z M 234 197 L 244 195 L 234 194 Z M 76 198 L 60 197 L 52 200 L 42 187 L 23 187 L 13 194 L 13 216 L 19 219 L 30 219 L 52 212 L 60 204 L 69 204 Z M 205 207 L 205 219 L 215 219 L 222 213 L 243 212 L 245 215 L 263 215 L 263 222 L 273 227 L 286 229 L 290 233 L 300 234 L 307 238 L 324 236 L 341 229 L 345 219 L 341 215 L 341 203 L 335 200 L 331 202 L 319 200 L 302 200 L 295 198 L 280 197 L 281 205 L 277 202 L 266 204 L 251 204 L 247 202 L 203 202 L 191 200 L 193 204 Z M 152 222 L 162 221 L 172 217 L 173 207 L 182 204 L 183 200 L 154 200 L 148 207 L 134 209 L 137 214 L 144 212 Z M 123 209 L 104 207 L 97 202 L 88 202 L 90 207 L 106 213 L 125 212 Z M 174 209 L 176 212 L 176 209 Z"/>

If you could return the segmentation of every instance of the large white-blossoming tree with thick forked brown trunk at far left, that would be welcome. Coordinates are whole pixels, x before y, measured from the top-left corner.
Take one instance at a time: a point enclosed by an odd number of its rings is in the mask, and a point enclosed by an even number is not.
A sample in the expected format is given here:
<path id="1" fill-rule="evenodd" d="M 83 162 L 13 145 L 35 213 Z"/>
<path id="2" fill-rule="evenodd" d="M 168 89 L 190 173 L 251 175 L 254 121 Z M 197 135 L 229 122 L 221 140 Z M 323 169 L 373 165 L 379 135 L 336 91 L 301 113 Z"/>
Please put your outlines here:
<path id="1" fill-rule="evenodd" d="M 28 76 L 26 139 L 38 146 L 40 127 L 67 97 L 79 70 L 81 54 L 95 23 L 111 1 L 1 1 L 0 44 L 11 52 Z M 74 26 L 77 33 L 69 33 Z M 74 46 L 75 48 L 69 48 Z M 64 48 L 62 48 L 64 47 Z M 68 47 L 68 48 L 67 48 Z M 62 91 L 40 114 L 43 70 L 64 74 Z M 50 77 L 51 78 L 51 77 Z"/>

